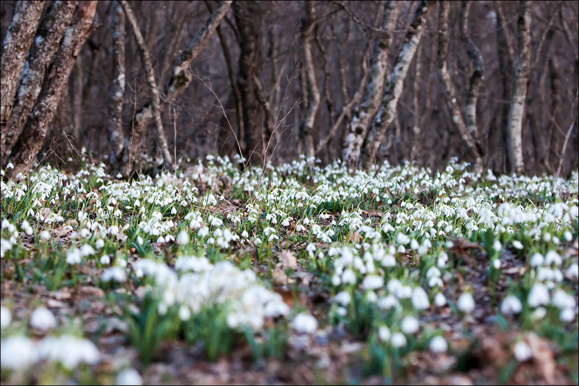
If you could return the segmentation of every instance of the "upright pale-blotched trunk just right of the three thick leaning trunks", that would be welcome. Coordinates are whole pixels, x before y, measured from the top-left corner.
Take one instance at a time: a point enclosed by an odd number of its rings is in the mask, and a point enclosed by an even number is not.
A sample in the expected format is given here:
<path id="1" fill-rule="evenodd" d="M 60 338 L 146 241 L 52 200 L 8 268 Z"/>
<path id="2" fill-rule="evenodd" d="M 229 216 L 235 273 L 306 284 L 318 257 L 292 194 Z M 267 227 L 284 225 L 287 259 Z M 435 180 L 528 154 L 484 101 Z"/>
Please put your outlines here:
<path id="1" fill-rule="evenodd" d="M 111 142 L 111 154 L 109 161 L 115 165 L 123 151 L 123 101 L 125 68 L 124 68 L 124 13 L 119 3 L 113 5 L 112 19 L 112 82 L 109 86 L 108 95 L 108 118 L 107 131 Z"/>

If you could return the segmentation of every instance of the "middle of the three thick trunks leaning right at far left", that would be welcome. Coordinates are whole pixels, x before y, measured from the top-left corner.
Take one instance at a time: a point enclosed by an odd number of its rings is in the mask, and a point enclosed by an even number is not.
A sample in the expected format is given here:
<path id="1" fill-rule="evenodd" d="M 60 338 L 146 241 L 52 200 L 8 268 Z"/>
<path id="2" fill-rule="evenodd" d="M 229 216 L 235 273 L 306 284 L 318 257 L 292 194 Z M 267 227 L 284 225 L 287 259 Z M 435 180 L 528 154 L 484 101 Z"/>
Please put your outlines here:
<path id="1" fill-rule="evenodd" d="M 2 163 L 8 162 L 8 156 L 22 133 L 28 114 L 42 88 L 46 67 L 58 49 L 58 43 L 72 20 L 76 5 L 78 1 L 54 1 L 42 18 L 36 34 L 42 39 L 35 39 L 28 52 L 14 96 L 12 112 L 6 127 L 2 127 Z"/>

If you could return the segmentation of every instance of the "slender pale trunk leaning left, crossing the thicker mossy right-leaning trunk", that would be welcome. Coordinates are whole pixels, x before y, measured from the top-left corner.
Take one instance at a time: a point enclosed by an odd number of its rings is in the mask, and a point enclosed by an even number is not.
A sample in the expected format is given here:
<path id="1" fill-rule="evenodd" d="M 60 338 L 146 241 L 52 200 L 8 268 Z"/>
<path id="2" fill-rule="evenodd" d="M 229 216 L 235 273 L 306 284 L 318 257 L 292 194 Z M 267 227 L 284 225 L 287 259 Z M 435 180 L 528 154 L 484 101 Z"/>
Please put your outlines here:
<path id="1" fill-rule="evenodd" d="M 164 162 L 168 166 L 170 166 L 171 169 L 175 170 L 175 165 L 173 164 L 173 156 L 171 156 L 171 152 L 169 151 L 169 146 L 167 145 L 167 138 L 165 137 L 165 132 L 163 130 L 163 123 L 161 121 L 161 100 L 159 97 L 159 89 L 157 88 L 157 83 L 155 82 L 155 72 L 153 72 L 153 65 L 151 63 L 151 56 L 149 55 L 149 50 L 146 47 L 145 39 L 141 34 L 141 30 L 139 29 L 139 25 L 137 24 L 137 19 L 135 19 L 135 16 L 129 6 L 129 3 L 122 0 L 119 1 L 119 5 L 123 8 L 124 13 L 127 16 L 127 19 L 129 19 L 129 24 L 131 25 L 131 30 L 133 30 L 133 35 L 135 36 L 135 41 L 137 42 L 139 53 L 141 55 L 141 61 L 143 66 L 145 67 L 146 82 L 149 86 L 149 91 L 151 92 L 151 102 L 150 102 L 151 114 L 150 115 L 143 114 L 140 117 L 142 118 L 149 117 L 149 119 L 155 119 L 155 132 L 157 137 L 157 145 L 159 145 L 159 148 L 161 149 Z M 138 129 L 136 128 L 137 125 L 135 124 L 135 131 L 145 130 L 146 123 L 148 123 L 148 120 L 146 120 L 144 124 L 142 123 L 143 122 L 139 122 Z M 127 166 L 129 167 L 128 169 L 132 167 L 131 165 Z M 124 174 L 128 175 L 130 173 L 130 170 L 128 169 L 125 168 L 125 170 L 123 171 Z"/>

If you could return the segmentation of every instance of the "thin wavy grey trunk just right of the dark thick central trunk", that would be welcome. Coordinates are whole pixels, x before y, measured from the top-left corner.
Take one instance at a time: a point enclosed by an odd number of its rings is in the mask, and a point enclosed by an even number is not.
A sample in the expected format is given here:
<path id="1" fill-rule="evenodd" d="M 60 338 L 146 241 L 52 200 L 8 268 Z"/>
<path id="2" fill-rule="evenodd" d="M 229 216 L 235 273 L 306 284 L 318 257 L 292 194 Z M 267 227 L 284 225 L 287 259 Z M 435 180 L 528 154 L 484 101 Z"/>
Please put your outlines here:
<path id="1" fill-rule="evenodd" d="M 314 61 L 312 55 L 312 41 L 314 39 L 314 23 L 316 22 L 316 2 L 306 0 L 306 19 L 302 26 L 302 44 L 304 54 L 304 71 L 309 90 L 309 98 L 307 99 L 306 116 L 302 119 L 300 126 L 300 137 L 303 141 L 303 150 L 306 157 L 314 156 L 314 139 L 312 130 L 314 123 L 316 123 L 316 114 L 320 107 L 320 90 L 316 80 L 316 69 L 314 68 Z"/>

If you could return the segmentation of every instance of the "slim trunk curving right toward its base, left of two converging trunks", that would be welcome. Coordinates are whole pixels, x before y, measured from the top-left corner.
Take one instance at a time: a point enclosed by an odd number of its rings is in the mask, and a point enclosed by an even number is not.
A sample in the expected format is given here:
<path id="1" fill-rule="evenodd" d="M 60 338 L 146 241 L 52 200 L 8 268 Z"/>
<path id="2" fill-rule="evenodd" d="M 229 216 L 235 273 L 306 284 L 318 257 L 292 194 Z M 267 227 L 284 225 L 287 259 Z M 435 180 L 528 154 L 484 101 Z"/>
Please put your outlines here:
<path id="1" fill-rule="evenodd" d="M 474 157 L 474 167 L 475 170 L 482 170 L 482 146 L 477 142 L 477 139 L 468 131 L 466 123 L 462 113 L 460 112 L 459 104 L 456 101 L 456 90 L 455 85 L 450 78 L 448 68 L 446 67 L 446 57 L 448 56 L 448 14 L 449 14 L 448 2 L 440 2 L 439 5 L 439 40 L 438 40 L 438 75 L 442 81 L 442 86 L 444 86 L 444 94 L 446 99 L 446 105 L 452 117 L 452 123 L 456 130 L 459 132 L 460 137 L 466 143 L 468 148 L 472 150 L 472 156 Z"/>

